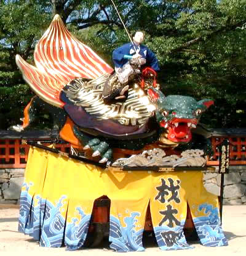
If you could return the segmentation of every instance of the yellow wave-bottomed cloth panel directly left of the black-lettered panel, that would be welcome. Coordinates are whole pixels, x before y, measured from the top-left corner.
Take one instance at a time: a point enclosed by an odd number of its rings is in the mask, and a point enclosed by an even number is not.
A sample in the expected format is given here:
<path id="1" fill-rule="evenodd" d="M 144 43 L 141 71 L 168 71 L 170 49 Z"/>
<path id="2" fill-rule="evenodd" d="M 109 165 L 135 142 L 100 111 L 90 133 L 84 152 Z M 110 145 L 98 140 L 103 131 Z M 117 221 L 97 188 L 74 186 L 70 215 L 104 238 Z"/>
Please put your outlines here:
<path id="1" fill-rule="evenodd" d="M 117 252 L 143 251 L 142 237 L 149 204 L 149 175 L 108 171 L 103 176 L 111 200 L 110 247 Z"/>

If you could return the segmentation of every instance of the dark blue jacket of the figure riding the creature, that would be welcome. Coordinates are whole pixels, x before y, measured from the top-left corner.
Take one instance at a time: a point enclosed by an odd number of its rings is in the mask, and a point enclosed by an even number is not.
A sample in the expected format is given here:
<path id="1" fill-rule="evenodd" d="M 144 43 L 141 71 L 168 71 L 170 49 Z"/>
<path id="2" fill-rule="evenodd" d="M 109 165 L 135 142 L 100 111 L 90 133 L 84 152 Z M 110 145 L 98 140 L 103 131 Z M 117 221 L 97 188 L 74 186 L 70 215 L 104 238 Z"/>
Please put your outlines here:
<path id="1" fill-rule="evenodd" d="M 136 46 L 136 49 L 138 49 L 138 46 Z M 127 63 L 127 59 L 124 59 L 124 55 L 134 55 L 136 52 L 133 48 L 132 43 L 124 44 L 117 49 L 113 51 L 113 62 L 114 67 L 120 67 L 122 68 L 124 64 Z M 159 65 L 158 60 L 156 59 L 156 56 L 154 55 L 154 52 L 149 50 L 148 47 L 146 47 L 143 44 L 140 44 L 140 51 L 138 52 L 142 57 L 146 59 L 145 66 L 151 67 L 156 71 L 159 71 Z"/>

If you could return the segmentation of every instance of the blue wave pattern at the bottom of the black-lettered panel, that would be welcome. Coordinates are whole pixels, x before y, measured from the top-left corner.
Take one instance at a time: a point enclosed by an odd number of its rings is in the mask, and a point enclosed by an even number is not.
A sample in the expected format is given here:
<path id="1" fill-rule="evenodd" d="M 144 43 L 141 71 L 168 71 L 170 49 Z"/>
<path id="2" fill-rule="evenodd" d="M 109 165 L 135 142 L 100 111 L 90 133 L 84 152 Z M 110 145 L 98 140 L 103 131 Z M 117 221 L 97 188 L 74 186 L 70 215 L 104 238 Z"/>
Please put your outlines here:
<path id="1" fill-rule="evenodd" d="M 185 220 L 180 221 L 180 226 L 169 228 L 168 226 L 156 226 L 154 227 L 154 234 L 156 241 L 161 250 L 185 250 L 192 249 L 185 239 L 183 233 L 183 226 Z"/>

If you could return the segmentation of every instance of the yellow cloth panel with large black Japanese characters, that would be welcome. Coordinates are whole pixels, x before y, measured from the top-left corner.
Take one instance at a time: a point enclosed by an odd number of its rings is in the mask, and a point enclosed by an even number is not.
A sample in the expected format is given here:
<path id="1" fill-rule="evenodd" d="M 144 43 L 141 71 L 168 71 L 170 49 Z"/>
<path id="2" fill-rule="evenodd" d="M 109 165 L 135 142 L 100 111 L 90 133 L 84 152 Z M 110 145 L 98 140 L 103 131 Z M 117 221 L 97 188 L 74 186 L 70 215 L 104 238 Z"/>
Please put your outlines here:
<path id="1" fill-rule="evenodd" d="M 187 213 L 183 173 L 153 173 L 151 218 L 161 250 L 190 249 L 183 233 Z"/>

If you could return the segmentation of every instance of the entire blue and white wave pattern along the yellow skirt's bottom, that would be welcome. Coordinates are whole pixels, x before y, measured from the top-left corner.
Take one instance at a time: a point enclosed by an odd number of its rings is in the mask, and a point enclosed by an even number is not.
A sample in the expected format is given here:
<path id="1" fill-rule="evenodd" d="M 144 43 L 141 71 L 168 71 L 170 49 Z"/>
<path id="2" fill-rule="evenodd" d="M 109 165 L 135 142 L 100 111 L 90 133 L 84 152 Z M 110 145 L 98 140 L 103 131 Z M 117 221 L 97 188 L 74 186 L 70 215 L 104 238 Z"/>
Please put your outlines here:
<path id="1" fill-rule="evenodd" d="M 24 183 L 20 195 L 20 218 L 18 231 L 29 234 L 38 240 L 41 246 L 60 247 L 63 241 L 68 250 L 82 247 L 91 215 L 85 214 L 81 207 L 76 207 L 80 218 L 72 218 L 66 223 L 60 209 L 65 204 L 66 196 L 61 196 L 54 205 L 43 199 L 39 194 L 30 194 L 33 183 Z M 71 209 L 73 211 L 73 209 Z M 211 204 L 200 204 L 197 211 L 207 216 L 193 218 L 200 242 L 204 246 L 227 246 L 228 241 L 221 229 L 218 208 Z M 109 241 L 110 247 L 117 252 L 143 251 L 143 228 L 136 231 L 137 218 L 140 212 L 132 212 L 124 218 L 121 225 L 119 218 L 110 215 Z M 183 234 L 185 220 L 180 225 L 169 228 L 167 225 L 154 227 L 158 246 L 161 250 L 191 249 Z M 65 229 L 66 226 L 66 229 Z"/>

